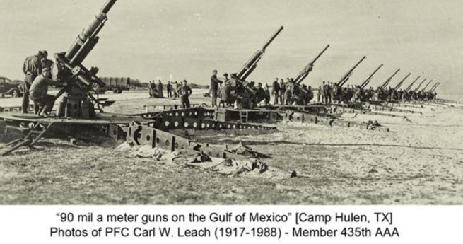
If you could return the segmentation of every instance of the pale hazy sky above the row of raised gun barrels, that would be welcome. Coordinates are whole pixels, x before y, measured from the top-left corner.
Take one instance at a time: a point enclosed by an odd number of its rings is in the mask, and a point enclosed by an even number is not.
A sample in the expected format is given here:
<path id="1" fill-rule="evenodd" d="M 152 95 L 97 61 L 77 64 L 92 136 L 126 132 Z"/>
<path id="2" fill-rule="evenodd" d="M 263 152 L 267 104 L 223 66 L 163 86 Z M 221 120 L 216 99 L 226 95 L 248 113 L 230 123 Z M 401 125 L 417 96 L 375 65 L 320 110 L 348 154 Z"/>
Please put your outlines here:
<path id="1" fill-rule="evenodd" d="M 25 57 L 66 52 L 105 0 L 1 0 L 0 76 L 23 79 Z M 119 0 L 100 42 L 83 62 L 100 76 L 207 84 L 211 71 L 237 72 L 279 28 L 248 80 L 296 76 L 327 44 L 310 86 L 339 81 L 364 55 L 348 84 L 380 64 L 371 85 L 394 71 L 440 81 L 443 93 L 463 93 L 463 4 L 459 0 Z M 431 85 L 432 86 L 432 85 Z"/>

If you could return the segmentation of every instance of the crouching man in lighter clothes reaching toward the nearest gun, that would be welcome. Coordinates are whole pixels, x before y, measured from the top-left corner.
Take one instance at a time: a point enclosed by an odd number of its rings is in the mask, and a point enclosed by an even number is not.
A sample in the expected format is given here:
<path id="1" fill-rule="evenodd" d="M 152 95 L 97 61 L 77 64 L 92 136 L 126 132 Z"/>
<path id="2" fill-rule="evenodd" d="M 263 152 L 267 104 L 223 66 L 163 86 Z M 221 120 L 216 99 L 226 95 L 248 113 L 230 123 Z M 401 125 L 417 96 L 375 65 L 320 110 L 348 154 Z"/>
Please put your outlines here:
<path id="1" fill-rule="evenodd" d="M 56 100 L 54 95 L 47 94 L 48 86 L 67 86 L 66 82 L 58 83 L 57 81 L 52 81 L 52 79 L 49 79 L 49 76 L 50 70 L 48 68 L 42 69 L 42 74 L 37 76 L 30 86 L 30 99 L 42 107 L 39 113 L 40 117 L 49 117 L 49 112 L 52 112 L 54 100 Z"/>

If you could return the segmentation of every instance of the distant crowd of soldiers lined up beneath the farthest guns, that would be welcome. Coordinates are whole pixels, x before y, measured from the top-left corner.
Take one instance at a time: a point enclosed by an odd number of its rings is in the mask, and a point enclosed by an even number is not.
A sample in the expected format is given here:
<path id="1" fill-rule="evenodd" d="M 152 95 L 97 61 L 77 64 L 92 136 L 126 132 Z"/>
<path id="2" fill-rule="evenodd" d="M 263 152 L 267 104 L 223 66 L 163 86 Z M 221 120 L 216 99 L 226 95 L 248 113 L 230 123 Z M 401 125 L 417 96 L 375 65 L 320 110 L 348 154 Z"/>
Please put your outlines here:
<path id="1" fill-rule="evenodd" d="M 389 88 L 376 88 L 372 86 L 367 89 L 361 86 L 340 87 L 337 83 L 323 81 L 318 88 L 317 100 L 319 103 L 356 103 L 368 101 L 392 102 L 392 101 L 424 101 L 436 98 L 435 91 L 404 91 Z"/>

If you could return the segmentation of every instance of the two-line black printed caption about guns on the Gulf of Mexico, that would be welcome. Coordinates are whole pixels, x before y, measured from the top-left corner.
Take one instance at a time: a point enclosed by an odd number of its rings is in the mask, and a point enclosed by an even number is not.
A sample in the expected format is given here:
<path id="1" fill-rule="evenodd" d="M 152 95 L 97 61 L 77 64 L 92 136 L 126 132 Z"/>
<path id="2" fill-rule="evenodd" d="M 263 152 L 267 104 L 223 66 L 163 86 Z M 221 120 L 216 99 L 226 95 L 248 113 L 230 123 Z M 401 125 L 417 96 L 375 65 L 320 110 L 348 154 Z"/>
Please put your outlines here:
<path id="1" fill-rule="evenodd" d="M 86 214 L 60 212 L 50 238 L 397 238 L 392 212 L 216 212 Z"/>

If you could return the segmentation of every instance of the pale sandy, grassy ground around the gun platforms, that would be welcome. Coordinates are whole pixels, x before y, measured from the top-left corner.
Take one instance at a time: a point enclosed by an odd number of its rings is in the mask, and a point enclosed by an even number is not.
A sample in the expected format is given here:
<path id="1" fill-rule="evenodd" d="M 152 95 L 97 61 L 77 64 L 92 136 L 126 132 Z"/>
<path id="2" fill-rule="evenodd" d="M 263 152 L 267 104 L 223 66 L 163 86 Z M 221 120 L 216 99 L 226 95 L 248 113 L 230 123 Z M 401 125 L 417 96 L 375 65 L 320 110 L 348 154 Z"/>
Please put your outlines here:
<path id="1" fill-rule="evenodd" d="M 210 103 L 194 91 L 193 103 Z M 136 113 L 178 100 L 145 92 L 104 95 L 108 112 Z M 0 106 L 20 99 L 0 100 Z M 315 124 L 279 123 L 272 133 L 197 132 L 201 141 L 237 144 L 266 153 L 283 177 L 227 177 L 153 159 L 117 144 L 73 146 L 46 139 L 0 163 L 3 204 L 463 204 L 463 109 L 426 105 L 402 117 L 349 115 L 377 120 L 391 132 Z M 290 178 L 291 172 L 298 173 Z M 287 175 L 287 177 L 284 177 Z"/>

